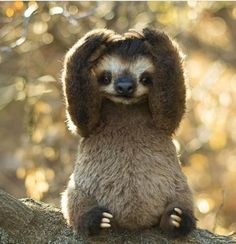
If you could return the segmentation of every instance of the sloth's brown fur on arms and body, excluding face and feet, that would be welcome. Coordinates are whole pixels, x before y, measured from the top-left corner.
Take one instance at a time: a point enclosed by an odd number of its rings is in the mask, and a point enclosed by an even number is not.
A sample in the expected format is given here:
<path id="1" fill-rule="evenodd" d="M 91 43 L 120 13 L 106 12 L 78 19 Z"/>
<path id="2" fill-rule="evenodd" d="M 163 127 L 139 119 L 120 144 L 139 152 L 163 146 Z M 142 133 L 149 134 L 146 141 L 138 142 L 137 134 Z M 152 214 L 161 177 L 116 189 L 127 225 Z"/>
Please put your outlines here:
<path id="1" fill-rule="evenodd" d="M 131 60 L 151 58 L 156 73 L 145 100 L 124 105 L 102 98 L 91 71 L 102 54 L 90 60 L 100 46 L 101 52 Z M 171 140 L 185 110 L 183 70 L 165 34 L 150 29 L 123 37 L 107 30 L 87 34 L 66 56 L 63 87 L 69 120 L 85 137 L 62 197 L 64 216 L 74 229 L 94 206 L 107 208 L 118 226 L 130 229 L 158 224 L 173 203 L 193 212 Z"/>

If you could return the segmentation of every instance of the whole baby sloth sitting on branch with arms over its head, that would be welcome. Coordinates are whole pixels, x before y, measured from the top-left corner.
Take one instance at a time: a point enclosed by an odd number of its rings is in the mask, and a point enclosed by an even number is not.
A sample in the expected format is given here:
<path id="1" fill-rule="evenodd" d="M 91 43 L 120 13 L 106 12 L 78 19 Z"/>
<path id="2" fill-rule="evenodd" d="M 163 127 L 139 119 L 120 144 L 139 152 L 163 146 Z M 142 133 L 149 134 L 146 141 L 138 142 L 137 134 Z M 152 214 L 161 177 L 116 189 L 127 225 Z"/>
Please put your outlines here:
<path id="1" fill-rule="evenodd" d="M 164 33 L 89 32 L 67 53 L 69 127 L 82 136 L 62 211 L 77 232 L 159 225 L 172 237 L 195 228 L 192 193 L 172 135 L 185 111 L 177 47 Z"/>

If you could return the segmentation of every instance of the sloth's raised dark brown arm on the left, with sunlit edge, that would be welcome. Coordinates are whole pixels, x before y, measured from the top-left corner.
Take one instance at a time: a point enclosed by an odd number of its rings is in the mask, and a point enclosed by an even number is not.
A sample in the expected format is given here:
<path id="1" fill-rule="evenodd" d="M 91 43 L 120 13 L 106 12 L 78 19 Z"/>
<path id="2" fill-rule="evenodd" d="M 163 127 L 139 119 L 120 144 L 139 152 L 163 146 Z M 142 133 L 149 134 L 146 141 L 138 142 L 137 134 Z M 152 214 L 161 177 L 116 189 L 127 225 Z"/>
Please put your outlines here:
<path id="1" fill-rule="evenodd" d="M 89 136 L 100 118 L 101 97 L 92 65 L 104 51 L 113 31 L 98 29 L 87 33 L 66 54 L 62 74 L 69 128 Z"/>

